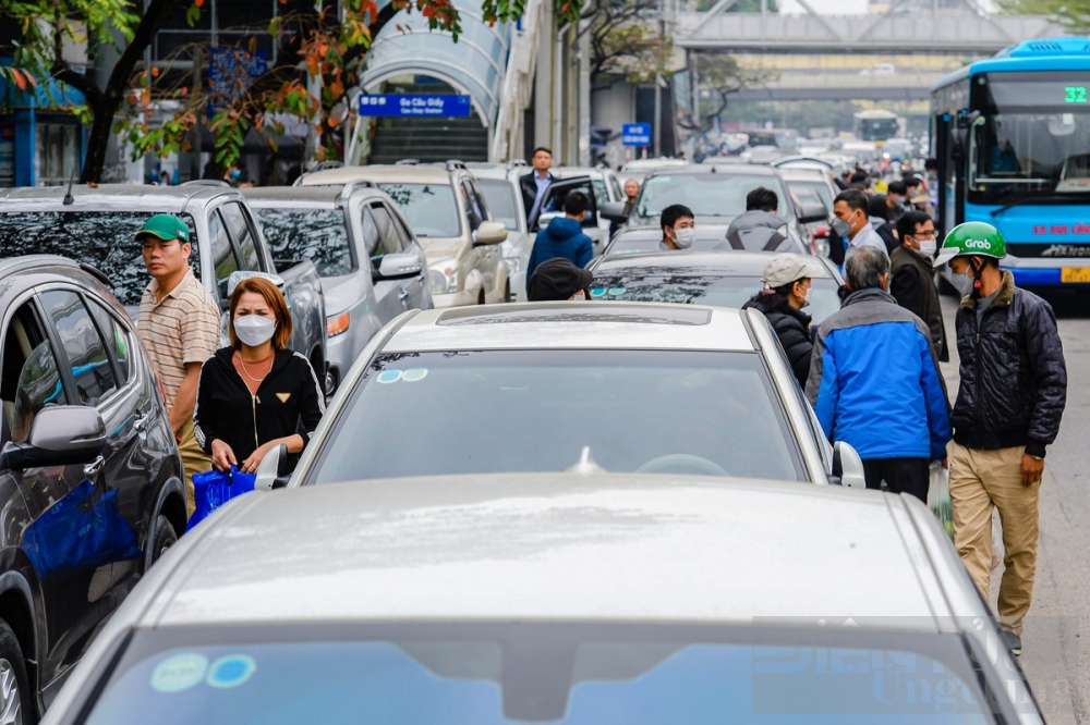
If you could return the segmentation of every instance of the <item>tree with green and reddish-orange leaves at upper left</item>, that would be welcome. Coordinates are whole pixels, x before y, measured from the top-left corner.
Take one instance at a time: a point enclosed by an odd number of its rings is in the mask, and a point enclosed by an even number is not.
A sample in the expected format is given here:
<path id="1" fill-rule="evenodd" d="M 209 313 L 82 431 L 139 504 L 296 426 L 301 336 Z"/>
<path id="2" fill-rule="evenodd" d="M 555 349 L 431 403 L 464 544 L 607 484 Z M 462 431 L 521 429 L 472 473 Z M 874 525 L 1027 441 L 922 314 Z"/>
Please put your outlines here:
<path id="1" fill-rule="evenodd" d="M 555 1 L 559 22 L 580 16 L 582 0 Z M 206 0 L 147 0 L 143 12 L 142 0 L 4 0 L 0 5 L 0 23 L 19 28 L 14 62 L 2 70 L 4 77 L 24 88 L 51 76 L 86 98 L 85 108 L 74 109 L 90 124 L 84 182 L 100 180 L 111 133 L 124 133 L 137 156 L 184 149 L 185 138 L 208 106 L 207 88 L 191 87 L 177 75 L 159 77 L 157 69 L 137 72 L 137 64 L 171 17 L 184 15 L 192 26 L 205 4 Z M 485 0 L 483 16 L 510 21 L 521 14 L 523 4 L 523 0 Z M 281 15 L 264 28 L 279 44 L 277 64 L 249 87 L 240 81 L 239 93 L 210 122 L 219 169 L 238 159 L 251 127 L 269 124 L 282 131 L 272 120 L 280 113 L 313 123 L 323 138 L 316 156 L 327 157 L 371 39 L 397 12 L 420 12 L 431 28 L 449 30 L 456 40 L 461 29 L 450 0 L 392 0 L 382 10 L 374 0 L 343 0 L 341 17 L 335 11 L 316 10 L 313 0 L 280 0 L 280 5 Z M 102 62 L 102 48 L 117 46 L 120 58 L 102 87 L 65 62 L 65 39 L 85 46 L 93 63 Z M 159 127 L 150 125 L 153 97 L 179 105 Z"/>

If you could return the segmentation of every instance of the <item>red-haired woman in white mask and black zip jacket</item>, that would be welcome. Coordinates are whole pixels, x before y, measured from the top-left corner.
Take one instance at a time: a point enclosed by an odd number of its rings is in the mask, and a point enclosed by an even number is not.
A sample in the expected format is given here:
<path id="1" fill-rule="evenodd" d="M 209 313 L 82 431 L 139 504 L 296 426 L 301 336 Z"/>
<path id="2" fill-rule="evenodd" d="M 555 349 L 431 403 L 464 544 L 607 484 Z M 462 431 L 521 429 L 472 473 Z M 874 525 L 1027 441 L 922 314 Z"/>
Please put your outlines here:
<path id="1" fill-rule="evenodd" d="M 231 293 L 229 319 L 230 346 L 201 370 L 193 414 L 197 441 L 217 470 L 234 465 L 253 474 L 281 443 L 294 468 L 325 413 L 325 398 L 311 362 L 288 349 L 288 304 L 270 281 L 247 278 Z"/>

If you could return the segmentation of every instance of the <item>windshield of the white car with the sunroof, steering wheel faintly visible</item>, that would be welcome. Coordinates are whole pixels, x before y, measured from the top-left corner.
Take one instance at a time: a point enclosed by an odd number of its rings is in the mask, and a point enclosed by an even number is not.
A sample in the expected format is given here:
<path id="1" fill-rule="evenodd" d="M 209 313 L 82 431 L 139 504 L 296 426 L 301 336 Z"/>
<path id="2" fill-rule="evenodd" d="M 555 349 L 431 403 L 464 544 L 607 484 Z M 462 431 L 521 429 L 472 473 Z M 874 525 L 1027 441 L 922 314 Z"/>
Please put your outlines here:
<path id="1" fill-rule="evenodd" d="M 564 471 L 584 451 L 608 471 L 806 480 L 784 415 L 752 352 L 380 355 L 307 482 Z"/>

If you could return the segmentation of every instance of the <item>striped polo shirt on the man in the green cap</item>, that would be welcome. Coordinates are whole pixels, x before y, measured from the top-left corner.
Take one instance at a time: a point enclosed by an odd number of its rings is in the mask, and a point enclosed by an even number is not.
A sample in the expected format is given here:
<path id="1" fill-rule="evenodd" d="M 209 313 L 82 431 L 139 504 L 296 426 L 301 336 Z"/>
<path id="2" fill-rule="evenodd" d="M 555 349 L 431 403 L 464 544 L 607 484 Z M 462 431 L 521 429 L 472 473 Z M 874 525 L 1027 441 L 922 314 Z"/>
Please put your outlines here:
<path id="1" fill-rule="evenodd" d="M 203 364 L 219 347 L 219 309 L 192 269 L 156 304 L 158 291 L 155 280 L 144 290 L 136 331 L 162 381 L 169 410 L 185 379 L 185 364 Z"/>

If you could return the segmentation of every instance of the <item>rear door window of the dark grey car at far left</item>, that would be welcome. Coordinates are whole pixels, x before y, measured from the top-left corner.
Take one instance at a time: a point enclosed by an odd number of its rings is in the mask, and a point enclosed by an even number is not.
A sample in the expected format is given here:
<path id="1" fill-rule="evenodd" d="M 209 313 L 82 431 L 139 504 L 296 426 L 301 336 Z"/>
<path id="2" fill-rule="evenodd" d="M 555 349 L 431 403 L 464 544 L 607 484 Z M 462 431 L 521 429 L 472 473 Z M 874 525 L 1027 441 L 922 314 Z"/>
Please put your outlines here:
<path id="1" fill-rule="evenodd" d="M 77 401 L 98 405 L 118 390 L 118 381 L 106 354 L 106 343 L 92 322 L 80 295 L 64 290 L 41 293 L 46 315 L 57 328 L 61 347 L 72 368 Z"/>

